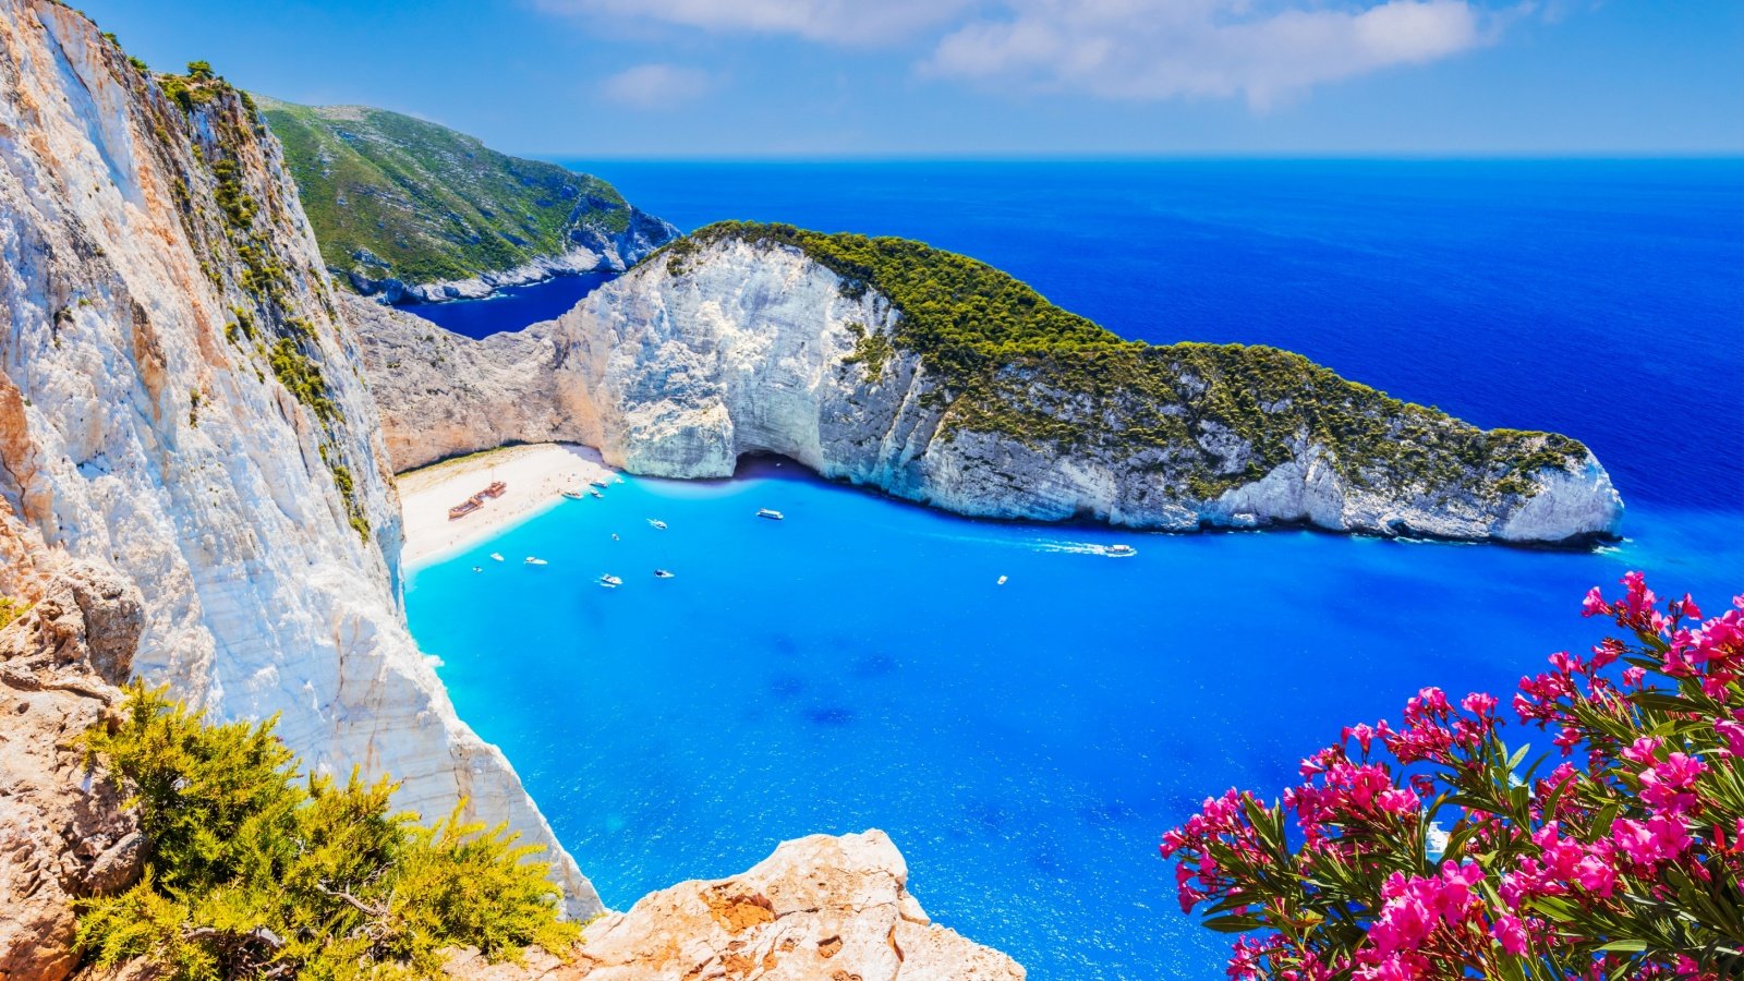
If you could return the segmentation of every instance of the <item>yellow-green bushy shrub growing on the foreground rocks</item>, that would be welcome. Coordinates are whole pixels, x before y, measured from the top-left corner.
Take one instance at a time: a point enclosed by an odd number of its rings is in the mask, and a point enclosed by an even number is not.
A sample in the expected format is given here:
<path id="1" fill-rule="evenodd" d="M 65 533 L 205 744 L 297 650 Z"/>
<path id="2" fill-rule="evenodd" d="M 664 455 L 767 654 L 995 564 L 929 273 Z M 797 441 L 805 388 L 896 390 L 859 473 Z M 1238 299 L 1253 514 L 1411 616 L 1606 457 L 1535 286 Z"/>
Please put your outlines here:
<path id="1" fill-rule="evenodd" d="M 439 951 L 565 953 L 541 848 L 502 826 L 422 827 L 391 813 L 394 784 L 303 775 L 262 724 L 208 724 L 134 683 L 120 723 L 87 752 L 133 787 L 145 875 L 80 901 L 78 946 L 98 965 L 148 958 L 174 981 L 438 978 Z"/>

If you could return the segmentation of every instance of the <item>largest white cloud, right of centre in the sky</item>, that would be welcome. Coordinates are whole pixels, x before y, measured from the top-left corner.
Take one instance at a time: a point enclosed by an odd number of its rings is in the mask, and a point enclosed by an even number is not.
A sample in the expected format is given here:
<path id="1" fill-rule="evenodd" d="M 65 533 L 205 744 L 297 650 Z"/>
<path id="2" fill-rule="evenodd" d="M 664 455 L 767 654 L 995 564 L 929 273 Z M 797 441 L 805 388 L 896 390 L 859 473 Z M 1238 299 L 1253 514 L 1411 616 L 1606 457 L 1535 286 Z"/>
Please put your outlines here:
<path id="1" fill-rule="evenodd" d="M 1479 47 L 1489 19 L 1467 0 L 1005 0 L 1001 16 L 947 33 L 923 70 L 1114 99 L 1245 96 L 1264 108 L 1320 82 Z"/>

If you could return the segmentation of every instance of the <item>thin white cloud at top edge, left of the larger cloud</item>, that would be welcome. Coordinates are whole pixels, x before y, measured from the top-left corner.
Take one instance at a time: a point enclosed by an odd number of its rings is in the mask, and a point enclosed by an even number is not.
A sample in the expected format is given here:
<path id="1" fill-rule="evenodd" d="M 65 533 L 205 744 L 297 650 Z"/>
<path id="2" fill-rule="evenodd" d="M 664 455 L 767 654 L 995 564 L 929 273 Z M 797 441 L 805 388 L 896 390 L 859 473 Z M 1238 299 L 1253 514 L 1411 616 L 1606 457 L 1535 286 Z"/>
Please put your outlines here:
<path id="1" fill-rule="evenodd" d="M 884 44 L 944 24 L 973 0 L 534 0 L 542 10 L 652 19 L 703 30 Z"/>

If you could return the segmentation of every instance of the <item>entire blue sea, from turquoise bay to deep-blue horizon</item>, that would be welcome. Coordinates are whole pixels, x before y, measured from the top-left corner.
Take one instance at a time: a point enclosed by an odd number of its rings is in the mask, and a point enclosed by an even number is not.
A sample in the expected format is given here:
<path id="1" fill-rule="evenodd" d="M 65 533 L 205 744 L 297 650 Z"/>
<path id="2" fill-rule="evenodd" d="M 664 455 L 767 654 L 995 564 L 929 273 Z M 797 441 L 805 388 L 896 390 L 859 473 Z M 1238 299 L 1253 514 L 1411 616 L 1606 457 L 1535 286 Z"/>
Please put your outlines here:
<path id="1" fill-rule="evenodd" d="M 938 922 L 1038 981 L 1210 981 L 1226 943 L 1155 852 L 1203 796 L 1289 784 L 1423 684 L 1510 689 L 1598 637 L 1580 595 L 1625 569 L 1744 590 L 1741 161 L 579 166 L 682 227 L 921 237 L 1128 337 L 1561 429 L 1631 508 L 1625 543 L 1570 553 L 971 522 L 773 461 L 565 501 L 406 602 L 617 908 L 882 827 Z"/>

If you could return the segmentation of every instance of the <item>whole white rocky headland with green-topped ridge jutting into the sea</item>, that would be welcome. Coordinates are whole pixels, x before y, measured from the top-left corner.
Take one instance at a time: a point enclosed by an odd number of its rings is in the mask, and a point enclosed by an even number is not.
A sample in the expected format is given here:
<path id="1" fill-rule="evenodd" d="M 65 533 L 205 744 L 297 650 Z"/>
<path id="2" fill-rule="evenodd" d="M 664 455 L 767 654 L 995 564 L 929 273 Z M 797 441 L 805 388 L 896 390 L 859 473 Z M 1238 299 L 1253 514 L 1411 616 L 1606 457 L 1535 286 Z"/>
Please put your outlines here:
<path id="1" fill-rule="evenodd" d="M 396 468 L 562 438 L 663 477 L 781 454 L 999 518 L 1561 543 L 1611 534 L 1622 515 L 1604 468 L 1566 436 L 1486 433 L 1284 351 L 1134 346 L 1060 314 L 1080 349 L 1038 354 L 1017 337 L 964 368 L 945 342 L 912 344 L 921 332 L 870 269 L 842 276 L 755 234 L 682 244 L 520 335 L 370 321 Z M 919 302 L 924 286 L 909 285 Z M 1046 304 L 996 288 L 1018 309 Z M 427 419 L 443 424 L 422 431 Z"/>

